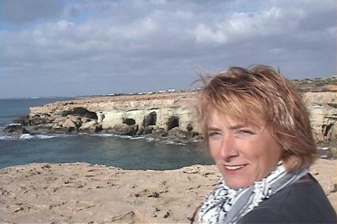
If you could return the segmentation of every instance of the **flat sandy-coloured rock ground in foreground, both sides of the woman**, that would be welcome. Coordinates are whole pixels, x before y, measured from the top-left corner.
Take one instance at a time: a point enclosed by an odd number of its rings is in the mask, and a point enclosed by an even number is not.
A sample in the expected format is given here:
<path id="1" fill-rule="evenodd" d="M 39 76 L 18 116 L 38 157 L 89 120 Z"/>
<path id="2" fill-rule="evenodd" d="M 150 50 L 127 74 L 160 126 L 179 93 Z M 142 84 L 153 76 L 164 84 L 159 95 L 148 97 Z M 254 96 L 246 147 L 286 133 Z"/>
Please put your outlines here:
<path id="1" fill-rule="evenodd" d="M 336 161 L 311 173 L 337 210 Z M 123 170 L 75 164 L 0 169 L 2 223 L 188 223 L 220 177 L 215 166 Z"/>

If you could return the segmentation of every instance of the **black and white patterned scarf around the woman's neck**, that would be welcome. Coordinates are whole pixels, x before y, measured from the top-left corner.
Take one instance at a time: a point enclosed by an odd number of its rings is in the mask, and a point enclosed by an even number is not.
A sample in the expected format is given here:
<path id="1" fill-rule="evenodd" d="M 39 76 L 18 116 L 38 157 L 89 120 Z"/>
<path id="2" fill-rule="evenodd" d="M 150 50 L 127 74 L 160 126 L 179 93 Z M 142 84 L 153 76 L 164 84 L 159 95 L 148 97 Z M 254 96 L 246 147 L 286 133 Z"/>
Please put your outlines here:
<path id="1" fill-rule="evenodd" d="M 288 173 L 280 161 L 266 177 L 255 181 L 250 187 L 232 189 L 226 185 L 224 178 L 221 178 L 202 202 L 198 222 L 237 223 L 263 200 L 307 173 L 308 169 Z"/>

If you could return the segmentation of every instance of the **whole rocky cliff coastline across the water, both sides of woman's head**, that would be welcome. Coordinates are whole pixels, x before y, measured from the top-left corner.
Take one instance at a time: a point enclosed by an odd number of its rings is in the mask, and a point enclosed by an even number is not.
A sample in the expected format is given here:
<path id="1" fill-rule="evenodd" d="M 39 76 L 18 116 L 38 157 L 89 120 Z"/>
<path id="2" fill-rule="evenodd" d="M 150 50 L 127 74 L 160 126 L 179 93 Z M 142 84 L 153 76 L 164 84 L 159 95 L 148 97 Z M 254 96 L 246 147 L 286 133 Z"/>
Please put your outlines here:
<path id="1" fill-rule="evenodd" d="M 314 138 L 323 158 L 337 157 L 337 103 L 334 92 L 302 94 L 311 115 Z M 102 96 L 59 101 L 14 120 L 2 134 L 113 133 L 146 135 L 184 144 L 201 144 L 193 119 L 195 92 Z"/>

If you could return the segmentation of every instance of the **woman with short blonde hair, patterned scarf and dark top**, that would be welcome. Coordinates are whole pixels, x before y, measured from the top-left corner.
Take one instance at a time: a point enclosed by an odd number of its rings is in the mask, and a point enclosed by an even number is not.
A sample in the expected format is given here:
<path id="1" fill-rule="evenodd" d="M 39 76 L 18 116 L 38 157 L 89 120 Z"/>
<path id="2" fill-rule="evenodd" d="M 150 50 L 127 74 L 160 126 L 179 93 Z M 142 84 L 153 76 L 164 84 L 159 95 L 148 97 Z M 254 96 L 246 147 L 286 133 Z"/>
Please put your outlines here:
<path id="1" fill-rule="evenodd" d="M 202 79 L 198 116 L 223 175 L 198 208 L 200 223 L 336 223 L 308 172 L 317 158 L 308 112 L 272 68 L 232 67 Z"/>

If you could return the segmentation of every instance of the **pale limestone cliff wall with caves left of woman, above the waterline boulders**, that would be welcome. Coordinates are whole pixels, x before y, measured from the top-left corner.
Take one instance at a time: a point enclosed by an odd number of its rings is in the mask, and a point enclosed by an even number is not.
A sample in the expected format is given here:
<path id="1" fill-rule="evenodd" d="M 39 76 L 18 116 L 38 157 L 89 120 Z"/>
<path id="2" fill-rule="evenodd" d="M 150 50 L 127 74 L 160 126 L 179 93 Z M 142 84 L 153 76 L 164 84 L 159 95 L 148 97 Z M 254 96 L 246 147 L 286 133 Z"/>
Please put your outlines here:
<path id="1" fill-rule="evenodd" d="M 118 97 L 94 97 L 31 107 L 29 117 L 53 129 L 100 126 L 103 130 L 121 125 L 151 126 L 168 131 L 191 129 L 188 105 L 194 93 L 164 93 Z M 88 125 L 89 124 L 89 125 Z"/>

